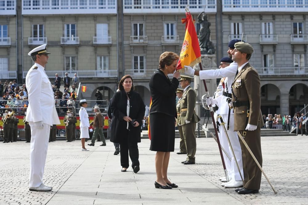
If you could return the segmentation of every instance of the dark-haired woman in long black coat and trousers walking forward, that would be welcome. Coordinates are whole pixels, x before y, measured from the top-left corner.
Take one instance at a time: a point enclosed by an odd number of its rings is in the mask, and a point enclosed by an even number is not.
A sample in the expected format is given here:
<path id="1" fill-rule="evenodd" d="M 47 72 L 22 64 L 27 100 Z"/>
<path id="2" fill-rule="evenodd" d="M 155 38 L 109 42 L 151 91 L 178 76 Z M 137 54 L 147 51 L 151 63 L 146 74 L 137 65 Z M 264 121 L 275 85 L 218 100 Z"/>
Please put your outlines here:
<path id="1" fill-rule="evenodd" d="M 132 77 L 125 75 L 119 83 L 111 101 L 111 137 L 113 143 L 120 143 L 122 172 L 129 167 L 129 156 L 135 173 L 140 170 L 138 142 L 141 142 L 140 124 L 144 117 L 145 105 L 140 94 L 134 91 Z"/>

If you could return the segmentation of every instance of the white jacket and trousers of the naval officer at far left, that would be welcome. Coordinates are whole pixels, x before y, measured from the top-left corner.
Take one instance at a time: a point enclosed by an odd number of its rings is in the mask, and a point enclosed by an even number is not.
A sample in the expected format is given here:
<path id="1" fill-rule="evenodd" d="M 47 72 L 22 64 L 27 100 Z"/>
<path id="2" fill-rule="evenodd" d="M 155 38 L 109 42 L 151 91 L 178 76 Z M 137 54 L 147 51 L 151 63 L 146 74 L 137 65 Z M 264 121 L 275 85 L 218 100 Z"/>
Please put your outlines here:
<path id="1" fill-rule="evenodd" d="M 50 126 L 60 124 L 60 120 L 54 92 L 42 65 L 34 63 L 30 68 L 26 75 L 26 87 L 29 95 L 26 121 L 31 128 L 29 186 L 39 187 L 43 183 Z M 35 128 L 34 122 L 39 121 L 43 121 L 43 129 Z"/>

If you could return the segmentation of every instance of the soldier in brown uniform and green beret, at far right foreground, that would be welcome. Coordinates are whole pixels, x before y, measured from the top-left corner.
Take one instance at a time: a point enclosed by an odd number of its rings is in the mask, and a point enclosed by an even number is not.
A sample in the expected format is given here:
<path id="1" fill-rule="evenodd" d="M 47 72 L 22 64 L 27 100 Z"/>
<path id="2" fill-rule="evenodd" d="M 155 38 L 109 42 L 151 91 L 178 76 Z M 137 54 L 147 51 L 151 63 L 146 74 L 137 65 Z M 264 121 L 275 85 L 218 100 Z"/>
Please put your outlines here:
<path id="1" fill-rule="evenodd" d="M 234 45 L 232 60 L 238 64 L 232 84 L 232 104 L 234 108 L 234 131 L 240 131 L 244 140 L 262 166 L 261 127 L 264 125 L 261 113 L 260 77 L 249 64 L 253 47 L 248 43 Z M 261 170 L 254 162 L 245 145 L 241 142 L 244 183 L 236 189 L 239 194 L 257 193 L 260 189 Z"/>

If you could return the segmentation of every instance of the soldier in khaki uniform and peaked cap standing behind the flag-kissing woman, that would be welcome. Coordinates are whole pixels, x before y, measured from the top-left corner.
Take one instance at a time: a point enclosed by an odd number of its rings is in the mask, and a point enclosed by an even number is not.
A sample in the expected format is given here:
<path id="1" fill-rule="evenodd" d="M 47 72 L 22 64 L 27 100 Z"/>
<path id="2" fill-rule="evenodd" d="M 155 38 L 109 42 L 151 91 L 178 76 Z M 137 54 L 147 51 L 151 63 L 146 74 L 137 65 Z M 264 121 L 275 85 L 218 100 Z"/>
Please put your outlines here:
<path id="1" fill-rule="evenodd" d="M 181 75 L 180 85 L 184 89 L 180 102 L 180 117 L 178 124 L 182 127 L 184 133 L 184 141 L 187 150 L 186 161 L 183 164 L 195 164 L 196 154 L 196 123 L 200 121 L 195 111 L 197 95 L 195 90 L 190 86 L 192 77 Z"/>

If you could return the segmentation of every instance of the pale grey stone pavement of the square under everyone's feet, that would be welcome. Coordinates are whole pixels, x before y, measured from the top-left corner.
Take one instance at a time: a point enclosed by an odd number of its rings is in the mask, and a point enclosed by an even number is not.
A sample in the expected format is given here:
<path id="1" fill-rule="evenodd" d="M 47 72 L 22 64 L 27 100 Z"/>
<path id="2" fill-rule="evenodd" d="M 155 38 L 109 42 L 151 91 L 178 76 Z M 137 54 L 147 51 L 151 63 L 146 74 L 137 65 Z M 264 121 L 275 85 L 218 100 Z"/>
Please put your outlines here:
<path id="1" fill-rule="evenodd" d="M 185 156 L 171 154 L 168 176 L 179 188 L 154 188 L 155 153 L 150 141 L 139 143 L 140 172 L 120 172 L 120 156 L 113 144 L 89 147 L 81 152 L 80 141 L 51 142 L 44 183 L 51 192 L 28 189 L 30 143 L 0 143 L 0 204 L 308 204 L 308 137 L 262 137 L 263 168 L 278 191 L 275 195 L 262 176 L 260 193 L 238 195 L 220 186 L 223 175 L 216 142 L 197 139 L 196 164 L 183 165 Z"/>

